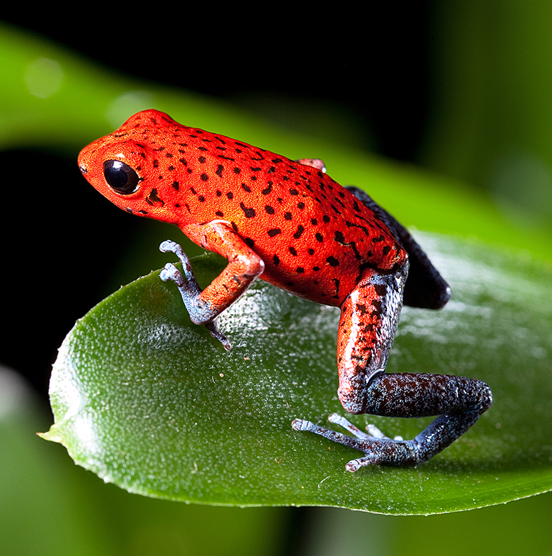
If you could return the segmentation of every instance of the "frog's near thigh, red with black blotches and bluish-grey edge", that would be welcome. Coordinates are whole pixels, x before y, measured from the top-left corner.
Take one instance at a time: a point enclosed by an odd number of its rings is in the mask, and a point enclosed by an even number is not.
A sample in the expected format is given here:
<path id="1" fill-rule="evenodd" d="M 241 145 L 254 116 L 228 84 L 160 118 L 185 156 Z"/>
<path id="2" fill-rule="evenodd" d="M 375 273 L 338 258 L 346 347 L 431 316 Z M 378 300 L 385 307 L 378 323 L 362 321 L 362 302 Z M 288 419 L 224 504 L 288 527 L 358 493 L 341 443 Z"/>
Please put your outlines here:
<path id="1" fill-rule="evenodd" d="M 387 364 L 397 330 L 408 262 L 396 273 L 368 269 L 342 305 L 337 339 L 339 400 L 365 413 L 366 388 Z"/>

